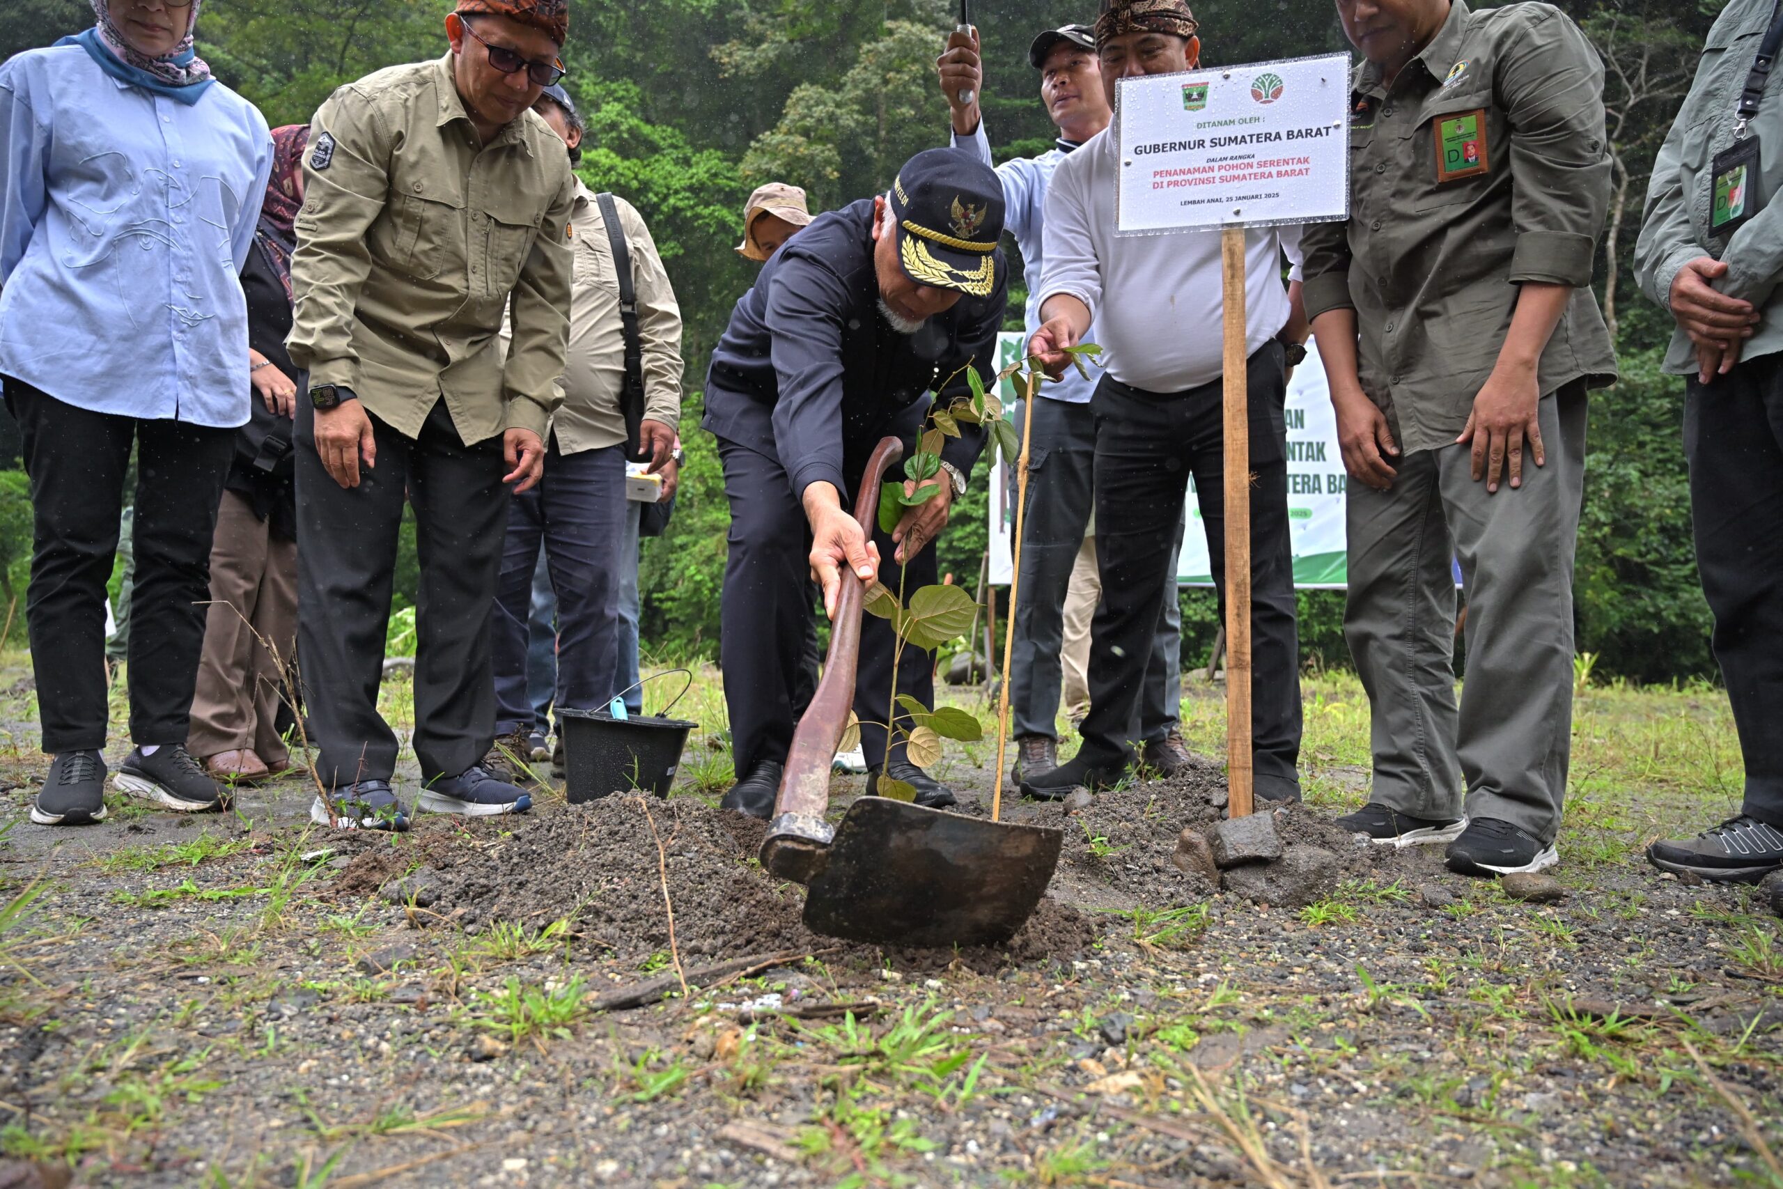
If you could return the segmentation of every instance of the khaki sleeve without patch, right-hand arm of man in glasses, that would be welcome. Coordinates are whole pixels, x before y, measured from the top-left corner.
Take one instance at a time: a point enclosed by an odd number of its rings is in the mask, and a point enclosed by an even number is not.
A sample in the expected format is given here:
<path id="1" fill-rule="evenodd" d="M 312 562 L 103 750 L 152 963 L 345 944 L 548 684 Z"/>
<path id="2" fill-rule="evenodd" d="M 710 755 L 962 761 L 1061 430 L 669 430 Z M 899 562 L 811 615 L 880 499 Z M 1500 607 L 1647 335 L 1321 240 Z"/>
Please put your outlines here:
<path id="1" fill-rule="evenodd" d="M 574 210 L 576 178 L 565 176 L 538 223 L 508 305 L 514 339 L 501 369 L 503 430 L 531 430 L 544 437 L 551 414 L 563 403 L 558 376 L 569 355 L 571 278 L 576 271 L 569 237 Z"/>

